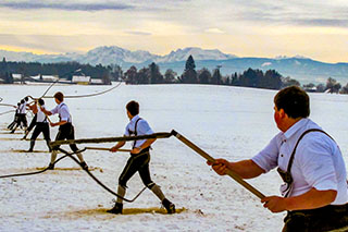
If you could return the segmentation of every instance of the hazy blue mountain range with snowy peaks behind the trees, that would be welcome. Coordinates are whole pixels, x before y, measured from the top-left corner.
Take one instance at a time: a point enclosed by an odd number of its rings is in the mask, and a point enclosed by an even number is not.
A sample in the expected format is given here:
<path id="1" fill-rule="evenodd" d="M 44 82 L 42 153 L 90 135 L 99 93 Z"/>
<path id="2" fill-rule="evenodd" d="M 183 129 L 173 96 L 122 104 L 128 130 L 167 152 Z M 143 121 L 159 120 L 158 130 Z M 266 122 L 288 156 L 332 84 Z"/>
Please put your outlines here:
<path id="1" fill-rule="evenodd" d="M 348 63 L 325 63 L 309 58 L 238 58 L 234 54 L 226 54 L 214 49 L 185 48 L 177 49 L 165 56 L 152 54 L 149 51 L 130 51 L 116 46 L 98 47 L 85 54 L 63 53 L 63 54 L 35 54 L 32 52 L 13 52 L 0 50 L 0 57 L 5 57 L 8 61 L 25 61 L 40 63 L 55 63 L 66 61 L 77 61 L 90 64 L 111 64 L 116 63 L 124 71 L 135 65 L 138 69 L 148 66 L 151 62 L 160 65 L 161 72 L 173 69 L 178 74 L 183 73 L 188 56 L 192 54 L 196 61 L 196 69 L 207 68 L 209 70 L 221 65 L 223 75 L 240 73 L 249 68 L 260 70 L 276 70 L 283 76 L 290 76 L 298 80 L 301 84 L 325 83 L 327 77 L 336 78 L 343 85 L 348 82 Z"/>

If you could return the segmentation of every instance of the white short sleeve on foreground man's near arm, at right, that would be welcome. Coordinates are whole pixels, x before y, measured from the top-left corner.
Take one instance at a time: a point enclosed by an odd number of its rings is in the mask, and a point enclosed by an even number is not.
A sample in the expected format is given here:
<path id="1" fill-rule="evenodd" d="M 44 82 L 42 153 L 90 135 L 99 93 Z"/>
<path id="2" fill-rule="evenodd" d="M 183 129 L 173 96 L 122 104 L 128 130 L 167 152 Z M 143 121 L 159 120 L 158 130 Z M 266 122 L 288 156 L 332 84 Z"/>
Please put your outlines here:
<path id="1" fill-rule="evenodd" d="M 322 138 L 308 137 L 297 151 L 306 182 L 318 191 L 337 191 L 338 182 L 333 159 L 333 147 Z"/>

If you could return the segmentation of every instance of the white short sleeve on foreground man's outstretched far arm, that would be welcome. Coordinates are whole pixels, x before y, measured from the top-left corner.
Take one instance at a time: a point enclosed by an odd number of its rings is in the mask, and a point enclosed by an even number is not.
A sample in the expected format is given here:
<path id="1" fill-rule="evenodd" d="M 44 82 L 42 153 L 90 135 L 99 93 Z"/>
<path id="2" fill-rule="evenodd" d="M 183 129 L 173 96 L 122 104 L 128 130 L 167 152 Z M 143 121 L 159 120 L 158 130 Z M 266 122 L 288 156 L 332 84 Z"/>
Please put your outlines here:
<path id="1" fill-rule="evenodd" d="M 265 148 L 263 148 L 258 155 L 251 158 L 251 160 L 265 172 L 269 172 L 277 167 L 277 158 L 279 152 L 277 136 L 273 137 Z"/>

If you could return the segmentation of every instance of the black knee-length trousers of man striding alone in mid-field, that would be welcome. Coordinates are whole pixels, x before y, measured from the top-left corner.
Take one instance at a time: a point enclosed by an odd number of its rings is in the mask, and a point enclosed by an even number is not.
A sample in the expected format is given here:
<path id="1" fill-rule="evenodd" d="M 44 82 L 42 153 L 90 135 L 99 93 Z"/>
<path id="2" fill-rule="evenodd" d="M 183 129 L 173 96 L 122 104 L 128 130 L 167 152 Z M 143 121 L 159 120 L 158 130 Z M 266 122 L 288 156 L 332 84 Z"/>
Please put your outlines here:
<path id="1" fill-rule="evenodd" d="M 136 173 L 139 172 L 142 183 L 146 186 L 152 185 L 152 180 L 150 176 L 150 148 L 146 148 L 141 150 L 140 154 L 130 154 L 130 158 L 127 161 L 127 164 L 124 167 L 120 178 L 119 178 L 119 185 L 123 187 L 127 187 L 127 182 L 129 179 Z"/>

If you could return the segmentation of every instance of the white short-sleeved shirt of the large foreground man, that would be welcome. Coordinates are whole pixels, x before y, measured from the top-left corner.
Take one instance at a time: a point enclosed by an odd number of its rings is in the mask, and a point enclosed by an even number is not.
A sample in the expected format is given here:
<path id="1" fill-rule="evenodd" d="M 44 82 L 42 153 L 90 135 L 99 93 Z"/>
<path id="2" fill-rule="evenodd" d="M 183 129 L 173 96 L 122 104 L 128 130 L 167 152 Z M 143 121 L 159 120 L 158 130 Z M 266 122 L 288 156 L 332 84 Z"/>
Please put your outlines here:
<path id="1" fill-rule="evenodd" d="M 301 119 L 285 133 L 278 133 L 270 144 L 252 158 L 260 168 L 269 172 L 279 167 L 287 170 L 294 147 L 301 134 L 309 129 L 320 129 L 310 119 Z M 293 167 L 293 190 L 289 196 L 318 191 L 337 191 L 332 205 L 348 203 L 347 172 L 338 145 L 321 132 L 310 132 L 299 142 Z M 281 187 L 282 195 L 285 192 Z"/>

